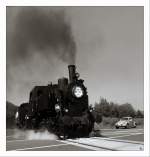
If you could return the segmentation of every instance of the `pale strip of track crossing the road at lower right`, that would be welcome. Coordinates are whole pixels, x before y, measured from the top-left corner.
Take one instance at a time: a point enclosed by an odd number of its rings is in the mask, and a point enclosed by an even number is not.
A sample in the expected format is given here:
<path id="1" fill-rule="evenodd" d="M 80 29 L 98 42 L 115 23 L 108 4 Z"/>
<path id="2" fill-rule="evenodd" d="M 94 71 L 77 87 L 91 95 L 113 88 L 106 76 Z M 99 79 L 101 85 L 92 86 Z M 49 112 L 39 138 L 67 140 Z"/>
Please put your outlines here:
<path id="1" fill-rule="evenodd" d="M 123 141 L 109 138 L 100 138 L 100 137 L 92 137 L 92 138 L 79 138 L 79 139 L 67 139 L 67 141 L 92 146 L 99 149 L 107 149 L 112 151 L 143 151 L 144 144 L 137 143 L 132 141 Z"/>

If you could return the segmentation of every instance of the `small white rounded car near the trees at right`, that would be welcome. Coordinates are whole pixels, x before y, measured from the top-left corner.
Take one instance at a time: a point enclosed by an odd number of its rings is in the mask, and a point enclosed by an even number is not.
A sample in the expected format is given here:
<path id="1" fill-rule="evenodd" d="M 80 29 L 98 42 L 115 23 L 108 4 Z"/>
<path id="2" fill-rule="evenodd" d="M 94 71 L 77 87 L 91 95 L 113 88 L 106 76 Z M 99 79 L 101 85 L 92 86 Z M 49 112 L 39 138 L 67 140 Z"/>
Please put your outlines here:
<path id="1" fill-rule="evenodd" d="M 123 117 L 115 124 L 115 127 L 116 127 L 116 129 L 136 128 L 136 122 L 133 120 L 132 117 Z"/>

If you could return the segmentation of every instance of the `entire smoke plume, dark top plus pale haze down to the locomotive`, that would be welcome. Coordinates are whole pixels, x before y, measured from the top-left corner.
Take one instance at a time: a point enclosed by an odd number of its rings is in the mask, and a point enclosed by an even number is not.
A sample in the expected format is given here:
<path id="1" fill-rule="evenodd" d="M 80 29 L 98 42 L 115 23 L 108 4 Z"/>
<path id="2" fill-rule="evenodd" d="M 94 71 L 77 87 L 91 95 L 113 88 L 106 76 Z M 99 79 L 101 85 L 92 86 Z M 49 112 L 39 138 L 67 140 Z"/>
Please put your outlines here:
<path id="1" fill-rule="evenodd" d="M 20 105 L 35 85 L 68 76 L 76 44 L 65 8 L 7 7 L 6 17 L 7 100 Z"/>

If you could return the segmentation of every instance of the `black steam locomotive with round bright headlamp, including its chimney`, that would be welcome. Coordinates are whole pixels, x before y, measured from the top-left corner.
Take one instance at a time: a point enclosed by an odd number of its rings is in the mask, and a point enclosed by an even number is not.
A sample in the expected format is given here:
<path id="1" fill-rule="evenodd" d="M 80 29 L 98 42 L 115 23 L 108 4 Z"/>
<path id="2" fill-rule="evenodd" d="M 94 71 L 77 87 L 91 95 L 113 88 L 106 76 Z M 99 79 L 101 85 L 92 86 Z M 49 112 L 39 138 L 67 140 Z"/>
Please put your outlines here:
<path id="1" fill-rule="evenodd" d="M 29 102 L 16 112 L 19 128 L 46 127 L 60 138 L 87 137 L 94 126 L 94 116 L 88 105 L 84 80 L 79 79 L 75 65 L 69 65 L 69 80 L 58 79 L 58 84 L 35 86 Z"/>

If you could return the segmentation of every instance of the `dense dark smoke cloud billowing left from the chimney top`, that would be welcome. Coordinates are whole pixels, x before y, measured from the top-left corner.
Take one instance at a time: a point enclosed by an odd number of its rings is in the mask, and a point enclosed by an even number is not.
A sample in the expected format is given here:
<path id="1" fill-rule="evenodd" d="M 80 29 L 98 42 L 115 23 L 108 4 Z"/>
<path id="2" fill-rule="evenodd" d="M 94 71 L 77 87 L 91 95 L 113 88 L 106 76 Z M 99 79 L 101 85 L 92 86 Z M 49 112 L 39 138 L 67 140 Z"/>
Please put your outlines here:
<path id="1" fill-rule="evenodd" d="M 22 9 L 16 16 L 9 52 L 15 63 L 33 53 L 51 54 L 68 64 L 75 63 L 76 44 L 64 11 L 43 11 L 35 7 Z M 37 51 L 30 51 L 33 48 Z"/>

